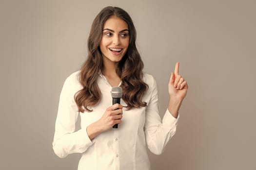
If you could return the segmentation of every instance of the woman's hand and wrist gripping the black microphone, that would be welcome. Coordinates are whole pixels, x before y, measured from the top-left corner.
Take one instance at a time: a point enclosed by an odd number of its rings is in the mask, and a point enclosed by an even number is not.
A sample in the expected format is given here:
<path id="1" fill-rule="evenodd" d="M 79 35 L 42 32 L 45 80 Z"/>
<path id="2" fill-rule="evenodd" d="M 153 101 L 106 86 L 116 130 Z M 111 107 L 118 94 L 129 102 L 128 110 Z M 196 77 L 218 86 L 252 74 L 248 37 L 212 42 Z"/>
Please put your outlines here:
<path id="1" fill-rule="evenodd" d="M 100 119 L 87 126 L 86 131 L 89 138 L 92 140 L 100 133 L 111 129 L 115 124 L 121 123 L 122 108 L 123 106 L 118 103 L 108 107 Z"/>

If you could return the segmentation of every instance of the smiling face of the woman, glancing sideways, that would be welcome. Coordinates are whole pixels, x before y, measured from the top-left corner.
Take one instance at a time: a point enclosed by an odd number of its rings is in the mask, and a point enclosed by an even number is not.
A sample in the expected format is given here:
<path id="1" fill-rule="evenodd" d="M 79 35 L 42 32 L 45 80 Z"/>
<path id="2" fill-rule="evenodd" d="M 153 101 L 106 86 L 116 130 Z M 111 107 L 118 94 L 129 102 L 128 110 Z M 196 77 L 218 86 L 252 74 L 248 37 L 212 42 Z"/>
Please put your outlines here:
<path id="1" fill-rule="evenodd" d="M 119 62 L 129 46 L 129 30 L 127 23 L 116 17 L 109 17 L 103 25 L 100 41 L 103 63 L 106 61 Z"/>

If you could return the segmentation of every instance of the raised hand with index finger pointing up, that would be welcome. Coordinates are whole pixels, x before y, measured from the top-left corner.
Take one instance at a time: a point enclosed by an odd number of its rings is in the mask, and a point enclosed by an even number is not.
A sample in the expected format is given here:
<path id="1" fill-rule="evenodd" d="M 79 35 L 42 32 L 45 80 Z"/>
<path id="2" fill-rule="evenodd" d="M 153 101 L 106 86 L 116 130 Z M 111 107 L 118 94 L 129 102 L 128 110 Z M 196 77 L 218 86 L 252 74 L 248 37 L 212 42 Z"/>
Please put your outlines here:
<path id="1" fill-rule="evenodd" d="M 175 71 L 172 72 L 168 84 L 168 91 L 171 99 L 183 101 L 187 94 L 188 84 L 181 75 L 178 74 L 179 63 L 176 63 Z"/>

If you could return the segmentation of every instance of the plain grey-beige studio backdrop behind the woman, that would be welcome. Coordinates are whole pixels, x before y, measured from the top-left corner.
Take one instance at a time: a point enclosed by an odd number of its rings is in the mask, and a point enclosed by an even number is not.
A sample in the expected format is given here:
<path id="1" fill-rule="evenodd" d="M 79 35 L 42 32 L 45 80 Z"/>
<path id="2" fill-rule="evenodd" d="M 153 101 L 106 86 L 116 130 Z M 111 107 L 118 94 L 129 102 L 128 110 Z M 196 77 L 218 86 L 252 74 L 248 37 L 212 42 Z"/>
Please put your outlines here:
<path id="1" fill-rule="evenodd" d="M 59 94 L 109 5 L 134 21 L 161 117 L 176 62 L 189 85 L 176 135 L 149 153 L 152 169 L 256 170 L 254 0 L 1 0 L 0 169 L 77 169 L 80 154 L 52 150 Z"/>

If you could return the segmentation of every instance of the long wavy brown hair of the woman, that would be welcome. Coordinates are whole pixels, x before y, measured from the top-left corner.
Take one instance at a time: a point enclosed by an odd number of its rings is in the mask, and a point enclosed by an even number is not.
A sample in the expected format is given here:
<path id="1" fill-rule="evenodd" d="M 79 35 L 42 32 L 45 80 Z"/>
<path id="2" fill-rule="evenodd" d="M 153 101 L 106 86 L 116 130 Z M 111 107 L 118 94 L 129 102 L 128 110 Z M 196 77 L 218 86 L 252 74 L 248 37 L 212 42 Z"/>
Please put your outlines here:
<path id="1" fill-rule="evenodd" d="M 142 69 L 144 67 L 136 48 L 136 29 L 129 14 L 118 7 L 105 7 L 94 19 L 91 32 L 88 38 L 88 56 L 81 67 L 79 81 L 83 86 L 75 94 L 75 102 L 78 105 L 79 112 L 84 113 L 84 107 L 87 111 L 92 111 L 88 106 L 94 106 L 101 100 L 97 79 L 98 73 L 103 66 L 102 54 L 99 44 L 102 37 L 103 25 L 111 16 L 117 16 L 128 24 L 129 46 L 126 54 L 118 63 L 116 70 L 122 83 L 120 87 L 123 90 L 122 100 L 127 104 L 127 109 L 133 107 L 140 108 L 147 105 L 142 101 L 142 97 L 148 89 L 148 85 L 143 82 Z"/>

